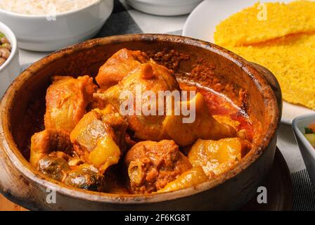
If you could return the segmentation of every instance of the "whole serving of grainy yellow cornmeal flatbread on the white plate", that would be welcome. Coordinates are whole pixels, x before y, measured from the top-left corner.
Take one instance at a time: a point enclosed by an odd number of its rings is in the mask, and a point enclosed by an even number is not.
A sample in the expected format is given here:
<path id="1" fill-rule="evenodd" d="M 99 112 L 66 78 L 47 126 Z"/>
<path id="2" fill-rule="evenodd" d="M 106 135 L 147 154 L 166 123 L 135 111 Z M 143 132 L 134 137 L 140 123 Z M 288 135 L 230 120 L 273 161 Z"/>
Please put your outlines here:
<path id="1" fill-rule="evenodd" d="M 217 25 L 216 44 L 271 70 L 285 101 L 315 110 L 315 2 L 267 3 L 261 21 L 259 6 Z"/>

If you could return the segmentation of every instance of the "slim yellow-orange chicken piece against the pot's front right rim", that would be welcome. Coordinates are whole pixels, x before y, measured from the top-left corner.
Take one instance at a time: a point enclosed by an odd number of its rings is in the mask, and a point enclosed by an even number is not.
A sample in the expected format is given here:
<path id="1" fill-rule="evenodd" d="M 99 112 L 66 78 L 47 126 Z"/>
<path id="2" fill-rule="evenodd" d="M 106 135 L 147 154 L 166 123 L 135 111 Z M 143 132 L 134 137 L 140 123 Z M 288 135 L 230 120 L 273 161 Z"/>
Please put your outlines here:
<path id="1" fill-rule="evenodd" d="M 158 192 L 177 191 L 207 181 L 209 177 L 203 171 L 203 167 L 193 167 L 181 174 L 176 180 L 167 184 Z"/>

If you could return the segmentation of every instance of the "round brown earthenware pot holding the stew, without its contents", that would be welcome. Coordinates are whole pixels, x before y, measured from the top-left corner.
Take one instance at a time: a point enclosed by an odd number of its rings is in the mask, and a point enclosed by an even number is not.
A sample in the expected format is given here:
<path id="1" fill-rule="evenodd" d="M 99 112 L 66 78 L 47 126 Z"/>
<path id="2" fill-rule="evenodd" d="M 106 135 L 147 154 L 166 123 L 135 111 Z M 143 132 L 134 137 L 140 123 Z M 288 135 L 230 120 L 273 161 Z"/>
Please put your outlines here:
<path id="1" fill-rule="evenodd" d="M 25 149 L 30 133 L 37 127 L 35 124 L 42 120 L 41 108 L 44 107 L 44 102 L 39 106 L 34 102 L 44 99 L 50 77 L 95 76 L 100 65 L 122 48 L 156 56 L 155 60 L 176 70 L 179 79 L 191 79 L 210 88 L 214 88 L 213 81 L 229 86 L 230 91 L 223 88 L 222 93 L 248 113 L 255 128 L 262 128 L 255 132 L 250 153 L 217 179 L 172 193 L 152 195 L 84 191 L 60 184 L 32 168 L 25 159 L 28 157 Z M 158 51 L 162 52 L 162 58 L 161 54 L 155 54 Z M 176 63 L 179 56 L 181 60 Z M 171 61 L 173 63 L 169 63 Z M 191 70 L 198 65 L 209 71 L 191 75 Z M 238 103 L 240 90 L 247 91 L 245 104 Z M 233 210 L 255 195 L 271 168 L 282 105 L 274 76 L 234 53 L 188 37 L 130 34 L 85 41 L 39 60 L 11 84 L 0 107 L 0 191 L 23 207 L 31 210 Z M 27 117 L 30 114 L 34 117 Z M 56 190 L 56 204 L 46 203 L 47 188 Z"/>

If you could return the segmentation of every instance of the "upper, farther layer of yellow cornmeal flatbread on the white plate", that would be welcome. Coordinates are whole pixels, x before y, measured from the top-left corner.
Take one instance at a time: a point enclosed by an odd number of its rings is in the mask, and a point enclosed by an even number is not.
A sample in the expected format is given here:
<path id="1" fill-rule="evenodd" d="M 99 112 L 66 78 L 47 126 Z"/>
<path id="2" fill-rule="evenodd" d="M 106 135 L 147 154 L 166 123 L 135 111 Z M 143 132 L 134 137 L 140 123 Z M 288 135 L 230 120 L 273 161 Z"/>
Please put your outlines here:
<path id="1" fill-rule="evenodd" d="M 315 31 L 314 1 L 257 3 L 217 25 L 214 41 L 221 46 L 240 46 L 310 31 Z"/>

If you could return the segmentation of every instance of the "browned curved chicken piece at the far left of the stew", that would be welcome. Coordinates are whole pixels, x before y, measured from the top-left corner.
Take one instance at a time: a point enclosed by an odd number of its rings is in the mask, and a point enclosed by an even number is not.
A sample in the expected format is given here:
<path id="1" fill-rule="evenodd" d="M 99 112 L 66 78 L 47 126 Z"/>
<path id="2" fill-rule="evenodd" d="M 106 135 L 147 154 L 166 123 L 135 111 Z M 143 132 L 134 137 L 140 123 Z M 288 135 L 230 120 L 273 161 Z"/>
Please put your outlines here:
<path id="1" fill-rule="evenodd" d="M 72 144 L 69 134 L 58 129 L 45 129 L 32 136 L 30 164 L 37 167 L 39 160 L 53 151 L 70 153 Z"/>

